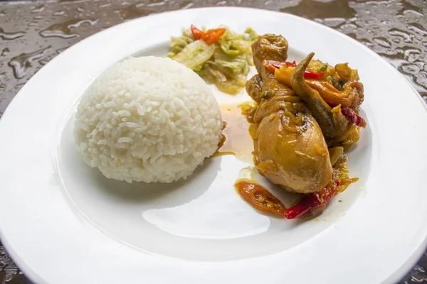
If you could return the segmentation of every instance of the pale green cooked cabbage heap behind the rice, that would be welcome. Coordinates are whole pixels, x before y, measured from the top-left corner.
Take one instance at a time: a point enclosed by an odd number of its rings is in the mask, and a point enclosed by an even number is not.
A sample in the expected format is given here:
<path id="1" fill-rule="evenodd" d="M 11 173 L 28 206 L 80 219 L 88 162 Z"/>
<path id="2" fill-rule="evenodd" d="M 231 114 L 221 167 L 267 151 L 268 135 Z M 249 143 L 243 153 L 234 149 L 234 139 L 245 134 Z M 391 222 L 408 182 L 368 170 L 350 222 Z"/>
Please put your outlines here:
<path id="1" fill-rule="evenodd" d="M 238 94 L 253 66 L 251 44 L 256 36 L 251 28 L 243 34 L 226 28 L 216 43 L 208 45 L 194 40 L 189 28 L 183 29 L 180 37 L 172 37 L 167 56 L 191 68 L 206 82 L 216 84 L 222 92 Z"/>

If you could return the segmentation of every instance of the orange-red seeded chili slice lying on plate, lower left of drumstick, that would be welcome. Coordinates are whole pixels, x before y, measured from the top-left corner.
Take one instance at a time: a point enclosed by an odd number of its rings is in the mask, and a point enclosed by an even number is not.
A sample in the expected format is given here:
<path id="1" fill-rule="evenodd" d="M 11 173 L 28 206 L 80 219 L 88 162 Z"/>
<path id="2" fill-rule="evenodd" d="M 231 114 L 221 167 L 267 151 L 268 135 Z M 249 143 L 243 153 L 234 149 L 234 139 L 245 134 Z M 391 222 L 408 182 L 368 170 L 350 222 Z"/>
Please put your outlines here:
<path id="1" fill-rule="evenodd" d="M 256 209 L 278 214 L 282 217 L 285 214 L 285 205 L 277 197 L 268 192 L 268 190 L 265 190 L 264 187 L 247 181 L 236 182 L 234 187 L 236 187 L 238 194 L 243 200 Z"/>

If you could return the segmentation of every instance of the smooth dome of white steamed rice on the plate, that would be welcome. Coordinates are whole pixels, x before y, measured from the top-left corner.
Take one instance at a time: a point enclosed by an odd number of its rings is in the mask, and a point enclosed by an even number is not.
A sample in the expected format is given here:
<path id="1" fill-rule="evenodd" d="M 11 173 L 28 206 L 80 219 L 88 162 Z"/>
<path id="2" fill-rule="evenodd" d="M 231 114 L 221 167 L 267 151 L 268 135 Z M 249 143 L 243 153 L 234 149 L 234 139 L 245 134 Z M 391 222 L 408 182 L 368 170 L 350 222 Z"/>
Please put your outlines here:
<path id="1" fill-rule="evenodd" d="M 129 58 L 86 90 L 75 143 L 107 178 L 173 182 L 215 153 L 221 128 L 214 94 L 196 73 L 169 58 Z"/>

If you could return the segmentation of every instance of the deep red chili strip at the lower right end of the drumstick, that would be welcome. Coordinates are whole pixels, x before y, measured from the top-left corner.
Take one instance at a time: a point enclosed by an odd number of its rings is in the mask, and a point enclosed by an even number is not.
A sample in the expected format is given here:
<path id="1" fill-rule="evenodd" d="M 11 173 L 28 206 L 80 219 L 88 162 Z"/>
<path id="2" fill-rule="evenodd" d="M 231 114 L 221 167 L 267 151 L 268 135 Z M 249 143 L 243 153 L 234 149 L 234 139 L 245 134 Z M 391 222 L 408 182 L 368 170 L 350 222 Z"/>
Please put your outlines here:
<path id="1" fill-rule="evenodd" d="M 326 206 L 332 200 L 332 197 L 335 196 L 338 186 L 339 182 L 337 180 L 335 182 L 330 182 L 329 185 L 323 187 L 322 190 L 319 190 L 318 192 L 312 192 L 305 195 L 305 197 L 302 197 L 300 202 L 285 211 L 285 218 L 299 218 L 322 205 Z"/>

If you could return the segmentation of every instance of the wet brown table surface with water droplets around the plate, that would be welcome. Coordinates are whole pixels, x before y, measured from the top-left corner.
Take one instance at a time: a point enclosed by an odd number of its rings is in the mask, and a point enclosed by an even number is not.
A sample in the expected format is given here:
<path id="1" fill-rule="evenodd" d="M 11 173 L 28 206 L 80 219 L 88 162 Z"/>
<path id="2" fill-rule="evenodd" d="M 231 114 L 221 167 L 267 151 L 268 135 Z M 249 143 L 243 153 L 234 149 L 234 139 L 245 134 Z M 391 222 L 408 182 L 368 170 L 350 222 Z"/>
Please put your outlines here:
<path id="1" fill-rule="evenodd" d="M 0 117 L 35 72 L 79 40 L 150 13 L 207 6 L 268 9 L 330 26 L 379 53 L 412 82 L 427 102 L 426 0 L 2 1 Z M 426 269 L 427 252 L 401 283 L 427 283 Z M 0 243 L 0 284 L 4 282 L 30 283 Z"/>

